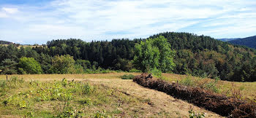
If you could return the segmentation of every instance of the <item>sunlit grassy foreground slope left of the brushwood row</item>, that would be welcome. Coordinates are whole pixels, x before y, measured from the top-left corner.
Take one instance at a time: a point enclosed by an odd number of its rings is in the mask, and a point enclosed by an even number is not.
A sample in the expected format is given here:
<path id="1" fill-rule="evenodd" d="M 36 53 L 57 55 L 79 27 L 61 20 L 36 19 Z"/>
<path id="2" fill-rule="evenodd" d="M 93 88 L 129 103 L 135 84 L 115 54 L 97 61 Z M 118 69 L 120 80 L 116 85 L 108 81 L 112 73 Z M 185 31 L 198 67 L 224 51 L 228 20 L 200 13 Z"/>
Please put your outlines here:
<path id="1" fill-rule="evenodd" d="M 0 117 L 24 117 L 30 114 L 34 117 L 56 117 L 64 111 L 63 108 L 67 101 L 72 107 L 71 111 L 77 113 L 83 110 L 84 117 L 94 117 L 97 115 L 97 111 L 99 111 L 99 115 L 112 117 L 188 117 L 190 109 L 207 113 L 207 116 L 210 117 L 219 117 L 217 114 L 200 109 L 185 101 L 176 100 L 165 93 L 140 87 L 132 80 L 120 79 L 123 74 L 15 75 L 18 78 L 23 78 L 25 82 L 12 82 L 15 86 L 10 87 L 12 89 L 8 89 L 7 94 L 1 95 Z M 42 101 L 39 99 L 43 96 L 51 96 L 53 93 L 49 95 L 42 93 L 40 96 L 36 91 L 41 93 L 50 90 L 50 88 L 55 88 L 56 84 L 59 84 L 58 87 L 62 87 L 61 80 L 64 77 L 70 81 L 67 82 L 65 89 L 62 89 L 63 93 L 67 94 L 66 97 L 65 95 L 63 97 L 61 93 L 62 98 L 57 98 L 57 100 L 48 98 Z M 0 79 L 5 79 L 5 76 L 1 75 Z M 57 81 L 53 81 L 54 79 Z M 72 79 L 77 82 L 75 88 L 78 87 L 78 90 L 71 93 L 72 99 L 67 100 L 70 97 L 69 90 L 73 91 L 74 88 L 72 85 L 69 87 L 69 83 L 72 84 Z M 83 83 L 89 83 L 94 88 L 90 94 L 81 93 L 83 89 L 79 89 L 79 85 Z M 54 93 L 51 97 L 54 97 L 55 94 L 58 95 L 58 93 Z M 16 101 L 10 101 L 5 106 L 3 102 L 8 98 L 15 98 Z M 22 107 L 23 101 L 26 104 L 24 108 Z"/>

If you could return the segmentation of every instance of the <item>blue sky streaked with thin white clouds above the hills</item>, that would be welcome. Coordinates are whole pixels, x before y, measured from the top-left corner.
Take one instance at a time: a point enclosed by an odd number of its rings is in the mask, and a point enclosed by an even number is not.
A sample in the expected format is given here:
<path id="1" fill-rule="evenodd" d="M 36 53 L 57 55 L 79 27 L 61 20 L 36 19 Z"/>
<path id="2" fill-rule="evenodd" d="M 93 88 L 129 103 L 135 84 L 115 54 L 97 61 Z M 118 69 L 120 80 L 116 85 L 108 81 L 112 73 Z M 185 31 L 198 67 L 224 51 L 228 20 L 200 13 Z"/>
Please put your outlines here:
<path id="1" fill-rule="evenodd" d="M 256 35 L 255 0 L 0 0 L 0 40 L 135 39 L 166 31 Z"/>

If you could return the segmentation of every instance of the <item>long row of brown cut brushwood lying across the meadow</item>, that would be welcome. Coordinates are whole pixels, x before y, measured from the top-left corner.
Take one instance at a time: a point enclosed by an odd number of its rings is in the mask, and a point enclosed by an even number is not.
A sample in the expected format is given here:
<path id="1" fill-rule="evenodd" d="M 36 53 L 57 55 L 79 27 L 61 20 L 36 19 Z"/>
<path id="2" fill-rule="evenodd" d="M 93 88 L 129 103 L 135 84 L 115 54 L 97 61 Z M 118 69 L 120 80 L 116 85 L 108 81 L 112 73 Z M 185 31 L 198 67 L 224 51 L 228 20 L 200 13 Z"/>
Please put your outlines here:
<path id="1" fill-rule="evenodd" d="M 199 87 L 187 87 L 175 82 L 169 83 L 156 79 L 151 74 L 141 74 L 133 79 L 143 87 L 159 90 L 196 106 L 213 111 L 223 117 L 256 117 L 255 103 L 228 98 Z"/>

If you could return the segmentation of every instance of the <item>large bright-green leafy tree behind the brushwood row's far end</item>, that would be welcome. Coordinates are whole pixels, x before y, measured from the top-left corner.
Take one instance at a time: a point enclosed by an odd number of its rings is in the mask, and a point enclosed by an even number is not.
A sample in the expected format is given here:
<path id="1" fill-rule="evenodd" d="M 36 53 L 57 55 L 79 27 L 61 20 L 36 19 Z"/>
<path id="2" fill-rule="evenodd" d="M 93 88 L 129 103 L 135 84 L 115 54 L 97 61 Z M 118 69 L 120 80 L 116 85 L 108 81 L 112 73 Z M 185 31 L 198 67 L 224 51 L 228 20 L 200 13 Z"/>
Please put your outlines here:
<path id="1" fill-rule="evenodd" d="M 141 71 L 159 69 L 162 72 L 173 70 L 173 51 L 164 36 L 146 39 L 135 45 L 135 58 L 133 63 Z"/>

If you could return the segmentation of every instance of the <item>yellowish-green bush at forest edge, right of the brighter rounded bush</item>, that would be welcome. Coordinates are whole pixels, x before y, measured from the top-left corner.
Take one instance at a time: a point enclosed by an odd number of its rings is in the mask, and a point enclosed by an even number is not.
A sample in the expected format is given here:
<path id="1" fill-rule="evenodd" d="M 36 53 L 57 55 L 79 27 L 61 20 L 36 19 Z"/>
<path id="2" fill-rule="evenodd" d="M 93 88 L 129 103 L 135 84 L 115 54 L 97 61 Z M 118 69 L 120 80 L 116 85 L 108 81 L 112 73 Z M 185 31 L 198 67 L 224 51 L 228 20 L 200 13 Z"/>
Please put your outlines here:
<path id="1" fill-rule="evenodd" d="M 52 68 L 57 74 L 74 74 L 75 60 L 70 55 L 56 55 L 52 59 Z"/>

